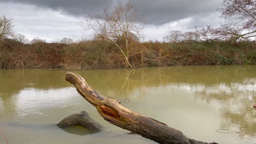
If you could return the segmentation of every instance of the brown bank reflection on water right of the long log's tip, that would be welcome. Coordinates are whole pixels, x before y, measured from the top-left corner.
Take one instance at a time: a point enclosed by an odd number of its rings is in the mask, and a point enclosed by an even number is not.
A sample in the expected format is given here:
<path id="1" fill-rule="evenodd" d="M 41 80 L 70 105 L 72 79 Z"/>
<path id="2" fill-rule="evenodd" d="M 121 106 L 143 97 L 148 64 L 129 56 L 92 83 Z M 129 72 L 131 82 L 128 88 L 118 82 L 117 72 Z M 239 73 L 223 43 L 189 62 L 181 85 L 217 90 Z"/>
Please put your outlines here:
<path id="1" fill-rule="evenodd" d="M 118 97 L 126 91 L 129 95 L 141 87 L 170 85 L 170 83 L 190 83 L 214 85 L 219 83 L 242 83 L 244 79 L 255 76 L 254 66 L 176 66 L 158 68 L 139 68 L 114 70 L 74 71 L 85 77 L 97 91 L 107 97 Z M 123 91 L 116 91 L 123 86 Z M 109 95 L 108 95 L 109 94 Z"/>

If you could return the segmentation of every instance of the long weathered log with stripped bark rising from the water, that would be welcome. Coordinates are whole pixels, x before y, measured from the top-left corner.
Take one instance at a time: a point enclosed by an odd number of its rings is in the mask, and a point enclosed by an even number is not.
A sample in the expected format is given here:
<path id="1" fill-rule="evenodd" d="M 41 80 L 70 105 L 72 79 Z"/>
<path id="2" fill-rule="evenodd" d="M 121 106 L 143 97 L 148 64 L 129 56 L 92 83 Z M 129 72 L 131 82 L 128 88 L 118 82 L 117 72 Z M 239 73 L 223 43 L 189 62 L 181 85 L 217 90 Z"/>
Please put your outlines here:
<path id="1" fill-rule="evenodd" d="M 66 80 L 75 86 L 84 99 L 96 107 L 106 121 L 120 128 L 158 143 L 207 144 L 206 142 L 190 139 L 183 135 L 181 131 L 168 127 L 165 123 L 132 112 L 121 105 L 118 100 L 103 97 L 78 74 L 67 73 Z"/>

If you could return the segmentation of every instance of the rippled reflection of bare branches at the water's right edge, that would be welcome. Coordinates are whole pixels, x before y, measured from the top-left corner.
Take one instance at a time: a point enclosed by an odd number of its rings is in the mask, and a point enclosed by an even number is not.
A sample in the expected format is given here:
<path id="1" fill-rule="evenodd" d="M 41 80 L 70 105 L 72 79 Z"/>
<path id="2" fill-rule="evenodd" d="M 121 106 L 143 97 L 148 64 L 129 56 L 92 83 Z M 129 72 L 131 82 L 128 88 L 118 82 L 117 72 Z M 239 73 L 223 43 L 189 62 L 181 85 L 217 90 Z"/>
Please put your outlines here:
<path id="1" fill-rule="evenodd" d="M 231 85 L 231 96 L 229 100 L 223 101 L 221 109 L 223 121 L 222 128 L 234 129 L 237 125 L 239 136 L 255 135 L 256 121 L 252 105 L 256 102 L 256 79 L 251 79 L 254 83 L 235 83 Z M 232 88 L 234 87 L 234 88 Z"/>

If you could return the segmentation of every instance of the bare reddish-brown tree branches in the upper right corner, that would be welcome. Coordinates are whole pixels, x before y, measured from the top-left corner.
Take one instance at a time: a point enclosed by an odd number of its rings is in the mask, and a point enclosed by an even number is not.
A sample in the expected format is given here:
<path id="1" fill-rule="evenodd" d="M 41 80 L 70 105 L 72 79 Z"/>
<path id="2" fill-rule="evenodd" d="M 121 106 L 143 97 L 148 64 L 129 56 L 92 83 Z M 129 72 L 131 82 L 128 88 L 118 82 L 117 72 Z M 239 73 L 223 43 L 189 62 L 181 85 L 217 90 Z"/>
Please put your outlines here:
<path id="1" fill-rule="evenodd" d="M 223 0 L 219 9 L 225 22 L 218 28 L 197 29 L 205 39 L 247 39 L 256 37 L 256 1 Z"/>

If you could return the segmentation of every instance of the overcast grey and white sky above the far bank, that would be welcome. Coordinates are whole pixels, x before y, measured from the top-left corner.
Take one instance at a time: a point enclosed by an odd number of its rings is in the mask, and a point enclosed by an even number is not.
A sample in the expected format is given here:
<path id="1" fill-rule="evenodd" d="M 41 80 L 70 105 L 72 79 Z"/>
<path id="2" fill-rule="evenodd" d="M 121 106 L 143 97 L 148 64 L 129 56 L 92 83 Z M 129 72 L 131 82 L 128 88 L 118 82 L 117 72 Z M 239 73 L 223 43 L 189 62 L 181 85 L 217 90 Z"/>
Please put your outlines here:
<path id="1" fill-rule="evenodd" d="M 63 37 L 88 38 L 79 22 L 88 14 L 126 0 L 0 0 L 0 15 L 13 18 L 15 31 L 28 39 L 58 41 Z M 146 40 L 162 40 L 170 31 L 193 31 L 194 27 L 218 26 L 217 9 L 222 0 L 132 0 L 145 22 Z"/>

